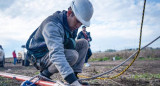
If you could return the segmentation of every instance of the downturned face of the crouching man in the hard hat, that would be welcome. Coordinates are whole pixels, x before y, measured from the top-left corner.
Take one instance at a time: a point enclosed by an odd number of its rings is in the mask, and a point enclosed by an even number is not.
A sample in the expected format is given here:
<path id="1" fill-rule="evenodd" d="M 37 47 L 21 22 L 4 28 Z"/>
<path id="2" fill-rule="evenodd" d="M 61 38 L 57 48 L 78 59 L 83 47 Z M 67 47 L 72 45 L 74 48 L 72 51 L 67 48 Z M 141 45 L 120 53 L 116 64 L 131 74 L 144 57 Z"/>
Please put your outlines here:
<path id="1" fill-rule="evenodd" d="M 82 23 L 72 13 L 67 13 L 67 21 L 71 30 L 78 29 Z"/>

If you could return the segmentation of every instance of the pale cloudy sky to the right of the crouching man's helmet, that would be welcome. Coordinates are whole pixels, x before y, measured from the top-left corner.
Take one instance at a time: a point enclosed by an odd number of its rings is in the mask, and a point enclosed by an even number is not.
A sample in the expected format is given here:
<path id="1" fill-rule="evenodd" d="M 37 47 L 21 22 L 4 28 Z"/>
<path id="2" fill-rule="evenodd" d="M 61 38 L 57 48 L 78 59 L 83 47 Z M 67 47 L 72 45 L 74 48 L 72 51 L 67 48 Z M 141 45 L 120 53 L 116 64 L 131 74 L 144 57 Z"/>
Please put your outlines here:
<path id="1" fill-rule="evenodd" d="M 93 37 L 92 48 L 95 51 L 108 48 L 137 47 L 143 0 L 95 0 L 93 4 L 95 6 L 95 14 L 92 20 L 93 24 L 88 30 L 91 31 Z M 159 4 L 150 2 L 146 5 L 142 34 L 143 45 L 149 43 L 160 34 L 158 22 L 160 20 Z"/>

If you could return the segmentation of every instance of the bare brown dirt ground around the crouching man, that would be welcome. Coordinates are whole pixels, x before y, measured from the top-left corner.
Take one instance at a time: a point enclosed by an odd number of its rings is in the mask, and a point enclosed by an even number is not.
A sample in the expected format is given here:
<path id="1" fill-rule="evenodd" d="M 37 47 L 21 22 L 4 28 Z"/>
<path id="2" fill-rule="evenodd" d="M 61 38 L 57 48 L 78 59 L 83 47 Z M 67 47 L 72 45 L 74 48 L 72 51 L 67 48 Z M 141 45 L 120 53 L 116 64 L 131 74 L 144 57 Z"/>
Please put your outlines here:
<path id="1" fill-rule="evenodd" d="M 104 73 L 116 65 L 120 64 L 122 61 L 103 61 L 103 62 L 89 62 L 90 67 L 84 67 L 83 73 L 80 75 L 85 75 L 88 77 L 95 76 L 97 74 Z M 122 67 L 111 72 L 109 75 L 104 75 L 103 77 L 114 76 L 120 73 L 130 62 L 127 62 Z M 14 66 L 12 63 L 6 63 L 4 68 L 0 68 L 1 72 L 14 73 L 19 75 L 26 75 L 33 77 L 39 72 L 33 67 L 24 67 L 21 64 Z M 120 77 L 115 79 L 94 79 L 89 80 L 91 86 L 160 86 L 160 78 L 134 78 L 135 75 L 142 74 L 159 74 L 160 75 L 160 60 L 157 61 L 135 61 L 135 63 Z M 54 74 L 51 77 L 53 80 L 63 80 L 60 75 Z M 0 86 L 19 86 L 21 82 L 16 80 L 10 80 L 0 77 Z"/>

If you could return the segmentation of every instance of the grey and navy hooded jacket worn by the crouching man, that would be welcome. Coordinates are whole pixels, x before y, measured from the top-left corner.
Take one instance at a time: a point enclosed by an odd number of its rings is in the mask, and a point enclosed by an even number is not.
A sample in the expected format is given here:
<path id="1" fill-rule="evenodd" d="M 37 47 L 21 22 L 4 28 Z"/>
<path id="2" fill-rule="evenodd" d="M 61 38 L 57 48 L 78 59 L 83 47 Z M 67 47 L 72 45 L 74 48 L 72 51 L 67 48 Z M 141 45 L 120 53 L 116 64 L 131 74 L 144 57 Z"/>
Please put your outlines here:
<path id="1" fill-rule="evenodd" d="M 69 34 L 70 38 L 75 39 L 78 31 L 70 31 L 66 13 L 66 11 L 57 11 L 46 18 L 35 31 L 28 48 L 28 50 L 41 48 L 42 52 L 49 52 L 50 60 L 56 66 L 63 78 L 74 74 L 74 71 L 67 62 L 64 54 L 64 44 L 66 44 L 65 39 L 67 39 L 66 32 Z"/>

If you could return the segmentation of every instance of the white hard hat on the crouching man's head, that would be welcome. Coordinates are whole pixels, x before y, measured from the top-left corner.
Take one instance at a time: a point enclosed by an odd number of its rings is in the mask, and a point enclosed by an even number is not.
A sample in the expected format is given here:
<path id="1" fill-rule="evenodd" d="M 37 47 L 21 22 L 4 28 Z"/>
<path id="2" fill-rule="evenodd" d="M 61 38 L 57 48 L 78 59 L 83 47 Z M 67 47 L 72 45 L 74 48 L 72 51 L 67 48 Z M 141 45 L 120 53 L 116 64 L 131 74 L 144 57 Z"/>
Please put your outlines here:
<path id="1" fill-rule="evenodd" d="M 76 18 L 85 26 L 90 26 L 90 19 L 93 15 L 93 6 L 89 0 L 73 0 L 71 8 Z"/>

